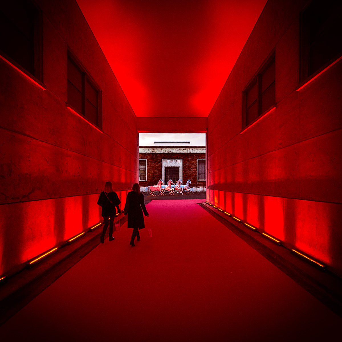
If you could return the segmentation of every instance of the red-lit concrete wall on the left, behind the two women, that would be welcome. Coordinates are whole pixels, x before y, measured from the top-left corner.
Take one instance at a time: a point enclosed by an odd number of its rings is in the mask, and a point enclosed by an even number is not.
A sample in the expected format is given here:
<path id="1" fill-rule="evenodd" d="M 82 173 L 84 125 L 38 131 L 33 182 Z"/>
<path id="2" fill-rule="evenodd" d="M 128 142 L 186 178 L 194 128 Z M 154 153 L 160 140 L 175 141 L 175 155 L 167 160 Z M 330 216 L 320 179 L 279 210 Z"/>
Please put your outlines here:
<path id="1" fill-rule="evenodd" d="M 0 275 L 101 220 L 137 179 L 136 117 L 76 1 L 40 1 L 42 90 L 0 60 Z M 103 134 L 66 108 L 67 50 L 102 91 Z"/>

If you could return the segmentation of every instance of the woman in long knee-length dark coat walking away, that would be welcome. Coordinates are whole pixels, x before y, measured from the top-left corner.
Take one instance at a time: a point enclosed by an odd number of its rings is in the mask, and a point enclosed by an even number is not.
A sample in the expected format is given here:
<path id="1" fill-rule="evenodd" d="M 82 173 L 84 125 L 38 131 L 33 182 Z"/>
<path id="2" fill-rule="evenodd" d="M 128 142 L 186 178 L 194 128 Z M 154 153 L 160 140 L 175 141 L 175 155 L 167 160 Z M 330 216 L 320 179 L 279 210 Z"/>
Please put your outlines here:
<path id="1" fill-rule="evenodd" d="M 128 214 L 127 228 L 133 228 L 129 244 L 134 247 L 135 237 L 137 241 L 140 241 L 139 229 L 145 228 L 143 211 L 145 216 L 149 216 L 144 203 L 144 195 L 140 192 L 138 183 L 133 184 L 132 191 L 128 193 L 123 211 L 125 215 Z"/>

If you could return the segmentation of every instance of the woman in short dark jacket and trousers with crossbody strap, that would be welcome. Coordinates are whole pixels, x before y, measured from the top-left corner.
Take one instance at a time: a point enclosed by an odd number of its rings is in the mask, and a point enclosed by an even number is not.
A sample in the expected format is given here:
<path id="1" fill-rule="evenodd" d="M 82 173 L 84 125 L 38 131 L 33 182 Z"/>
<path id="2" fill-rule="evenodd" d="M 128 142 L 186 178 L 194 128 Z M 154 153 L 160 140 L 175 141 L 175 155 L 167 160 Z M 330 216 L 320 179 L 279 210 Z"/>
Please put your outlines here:
<path id="1" fill-rule="evenodd" d="M 109 241 L 114 240 L 113 237 L 113 224 L 114 218 L 116 215 L 116 208 L 118 208 L 118 213 L 121 213 L 119 208 L 119 204 L 121 201 L 119 200 L 118 195 L 113 191 L 113 187 L 111 186 L 111 182 L 106 182 L 104 191 L 100 194 L 98 198 L 97 204 L 102 207 L 103 222 L 104 226 L 102 229 L 102 234 L 100 237 L 100 241 L 103 244 L 105 242 L 105 234 L 108 228 L 109 223 Z"/>

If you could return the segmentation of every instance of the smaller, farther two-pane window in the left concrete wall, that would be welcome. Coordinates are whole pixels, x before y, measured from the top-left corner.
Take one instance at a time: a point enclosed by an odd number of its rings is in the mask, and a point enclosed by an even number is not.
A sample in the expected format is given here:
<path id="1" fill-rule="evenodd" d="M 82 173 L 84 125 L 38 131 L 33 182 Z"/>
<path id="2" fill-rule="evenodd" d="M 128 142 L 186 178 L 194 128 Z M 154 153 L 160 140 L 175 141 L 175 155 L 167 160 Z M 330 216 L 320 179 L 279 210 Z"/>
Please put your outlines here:
<path id="1" fill-rule="evenodd" d="M 89 76 L 68 56 L 68 106 L 99 126 L 98 91 Z"/>

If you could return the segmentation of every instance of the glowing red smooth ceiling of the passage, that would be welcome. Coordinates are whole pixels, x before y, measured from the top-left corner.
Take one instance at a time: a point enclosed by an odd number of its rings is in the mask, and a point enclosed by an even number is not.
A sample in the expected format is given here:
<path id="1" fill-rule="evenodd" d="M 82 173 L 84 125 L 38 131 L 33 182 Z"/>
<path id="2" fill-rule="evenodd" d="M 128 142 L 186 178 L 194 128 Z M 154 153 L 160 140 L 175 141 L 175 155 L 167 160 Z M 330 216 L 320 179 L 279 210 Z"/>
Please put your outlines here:
<path id="1" fill-rule="evenodd" d="M 137 117 L 206 117 L 266 0 L 77 0 Z"/>

